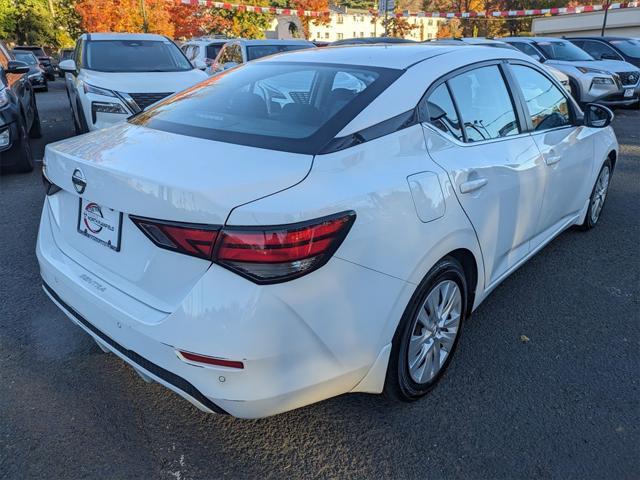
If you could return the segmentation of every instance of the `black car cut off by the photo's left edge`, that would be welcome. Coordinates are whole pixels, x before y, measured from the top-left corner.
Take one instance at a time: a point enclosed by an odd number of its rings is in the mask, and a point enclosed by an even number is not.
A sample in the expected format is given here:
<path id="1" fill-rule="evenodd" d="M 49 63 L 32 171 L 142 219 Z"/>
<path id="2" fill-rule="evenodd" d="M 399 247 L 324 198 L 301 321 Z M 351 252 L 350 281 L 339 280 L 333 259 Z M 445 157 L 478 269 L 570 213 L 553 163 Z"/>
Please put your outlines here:
<path id="1" fill-rule="evenodd" d="M 40 137 L 36 96 L 28 79 L 29 65 L 0 41 L 0 167 L 33 170 L 29 137 Z"/>

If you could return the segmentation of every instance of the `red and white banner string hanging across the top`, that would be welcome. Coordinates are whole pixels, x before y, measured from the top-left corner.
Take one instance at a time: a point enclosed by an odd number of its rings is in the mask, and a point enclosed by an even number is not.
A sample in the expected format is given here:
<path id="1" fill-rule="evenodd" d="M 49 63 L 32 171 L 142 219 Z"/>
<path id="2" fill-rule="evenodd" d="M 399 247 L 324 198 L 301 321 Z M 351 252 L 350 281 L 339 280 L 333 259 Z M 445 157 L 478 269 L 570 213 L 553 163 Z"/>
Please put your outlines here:
<path id="1" fill-rule="evenodd" d="M 240 12 L 271 13 L 274 15 L 295 15 L 298 17 L 322 17 L 329 15 L 329 11 L 298 10 L 295 8 L 259 7 L 255 5 L 240 5 L 235 3 L 214 2 L 212 0 L 179 0 L 181 3 L 222 8 L 224 10 L 238 10 Z M 533 16 L 556 16 L 573 15 L 578 13 L 589 13 L 606 10 L 618 10 L 621 8 L 638 8 L 640 1 L 612 3 L 606 5 L 584 5 L 577 7 L 561 8 L 539 8 L 533 10 L 489 10 L 486 12 L 409 12 L 396 13 L 396 17 L 432 17 L 432 18 L 486 18 L 486 17 L 533 17 Z"/>

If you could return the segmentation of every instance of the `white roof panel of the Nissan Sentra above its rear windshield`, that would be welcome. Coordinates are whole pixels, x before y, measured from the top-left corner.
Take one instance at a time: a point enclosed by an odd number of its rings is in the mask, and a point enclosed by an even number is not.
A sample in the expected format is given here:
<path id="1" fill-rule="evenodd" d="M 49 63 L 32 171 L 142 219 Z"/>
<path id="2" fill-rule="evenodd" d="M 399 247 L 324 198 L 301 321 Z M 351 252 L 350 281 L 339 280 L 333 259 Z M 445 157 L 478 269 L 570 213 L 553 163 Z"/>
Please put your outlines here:
<path id="1" fill-rule="evenodd" d="M 429 45 L 421 43 L 344 45 L 296 50 L 294 52 L 272 55 L 254 61 L 329 63 L 387 67 L 402 70 L 423 60 L 451 52 L 457 48 L 458 47 L 451 45 Z"/>

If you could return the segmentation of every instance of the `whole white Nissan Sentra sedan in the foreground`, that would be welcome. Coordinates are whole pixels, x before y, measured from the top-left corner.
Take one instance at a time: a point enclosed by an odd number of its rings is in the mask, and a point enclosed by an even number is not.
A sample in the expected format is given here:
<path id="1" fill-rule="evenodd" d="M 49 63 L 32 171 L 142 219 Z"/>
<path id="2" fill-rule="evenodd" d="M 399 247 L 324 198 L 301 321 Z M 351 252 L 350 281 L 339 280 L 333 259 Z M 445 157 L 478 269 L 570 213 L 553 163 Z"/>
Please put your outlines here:
<path id="1" fill-rule="evenodd" d="M 597 225 L 612 118 L 511 50 L 251 61 L 47 146 L 44 290 L 206 412 L 416 400 L 501 281 Z"/>

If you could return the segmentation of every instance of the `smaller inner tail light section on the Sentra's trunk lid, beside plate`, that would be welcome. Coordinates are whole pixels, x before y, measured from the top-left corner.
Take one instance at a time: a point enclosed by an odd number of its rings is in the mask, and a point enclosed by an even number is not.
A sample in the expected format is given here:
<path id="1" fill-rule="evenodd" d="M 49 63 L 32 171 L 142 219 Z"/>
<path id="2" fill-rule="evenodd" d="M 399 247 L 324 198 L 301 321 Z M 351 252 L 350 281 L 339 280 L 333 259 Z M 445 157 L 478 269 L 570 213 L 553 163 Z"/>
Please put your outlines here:
<path id="1" fill-rule="evenodd" d="M 211 260 L 220 227 L 151 220 L 132 215 L 130 218 L 158 247 Z"/>

